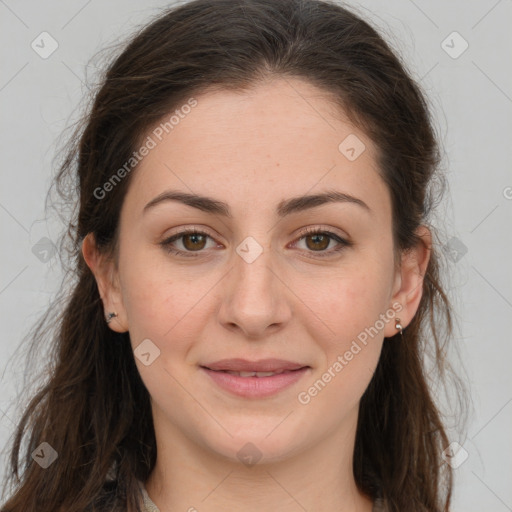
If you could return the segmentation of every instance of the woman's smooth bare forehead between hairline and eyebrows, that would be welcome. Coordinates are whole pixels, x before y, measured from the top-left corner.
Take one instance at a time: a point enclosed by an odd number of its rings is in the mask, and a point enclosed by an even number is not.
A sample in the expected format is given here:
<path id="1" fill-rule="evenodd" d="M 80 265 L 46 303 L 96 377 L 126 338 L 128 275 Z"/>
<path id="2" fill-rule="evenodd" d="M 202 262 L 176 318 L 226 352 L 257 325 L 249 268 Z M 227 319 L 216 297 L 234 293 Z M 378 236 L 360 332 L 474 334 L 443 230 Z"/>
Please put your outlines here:
<path id="1" fill-rule="evenodd" d="M 313 85 L 276 79 L 194 99 L 172 124 L 165 125 L 170 113 L 147 132 L 155 145 L 126 201 L 146 204 L 169 188 L 215 196 L 236 212 L 237 205 L 267 208 L 288 196 L 338 189 L 389 208 L 374 145 Z"/>

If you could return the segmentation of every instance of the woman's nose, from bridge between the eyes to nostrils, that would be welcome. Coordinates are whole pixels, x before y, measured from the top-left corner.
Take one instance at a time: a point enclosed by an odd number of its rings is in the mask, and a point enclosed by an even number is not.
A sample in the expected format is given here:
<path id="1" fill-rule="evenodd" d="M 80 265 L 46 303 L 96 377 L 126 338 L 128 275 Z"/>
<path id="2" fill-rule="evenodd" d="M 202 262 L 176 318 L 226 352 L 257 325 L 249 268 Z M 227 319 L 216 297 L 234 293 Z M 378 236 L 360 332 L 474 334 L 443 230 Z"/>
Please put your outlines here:
<path id="1" fill-rule="evenodd" d="M 263 339 L 289 322 L 290 297 L 286 276 L 279 272 L 270 247 L 249 239 L 233 254 L 233 266 L 222 289 L 219 321 L 246 338 Z"/>

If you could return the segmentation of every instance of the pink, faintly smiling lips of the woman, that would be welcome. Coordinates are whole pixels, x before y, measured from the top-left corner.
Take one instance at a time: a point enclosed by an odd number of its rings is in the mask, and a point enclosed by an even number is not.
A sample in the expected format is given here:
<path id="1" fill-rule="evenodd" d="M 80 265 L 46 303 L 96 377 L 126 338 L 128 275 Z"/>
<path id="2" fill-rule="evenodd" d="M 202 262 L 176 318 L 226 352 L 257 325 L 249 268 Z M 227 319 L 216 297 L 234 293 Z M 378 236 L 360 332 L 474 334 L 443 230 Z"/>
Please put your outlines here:
<path id="1" fill-rule="evenodd" d="M 218 369 L 212 368 L 212 366 Z M 205 372 L 221 389 L 243 398 L 265 398 L 276 395 L 293 386 L 306 374 L 311 367 L 299 363 L 292 363 L 282 359 L 264 359 L 260 361 L 247 361 L 244 359 L 224 359 L 207 366 L 201 366 Z M 226 371 L 255 371 L 271 372 L 283 371 L 268 377 L 240 377 L 226 373 Z"/>

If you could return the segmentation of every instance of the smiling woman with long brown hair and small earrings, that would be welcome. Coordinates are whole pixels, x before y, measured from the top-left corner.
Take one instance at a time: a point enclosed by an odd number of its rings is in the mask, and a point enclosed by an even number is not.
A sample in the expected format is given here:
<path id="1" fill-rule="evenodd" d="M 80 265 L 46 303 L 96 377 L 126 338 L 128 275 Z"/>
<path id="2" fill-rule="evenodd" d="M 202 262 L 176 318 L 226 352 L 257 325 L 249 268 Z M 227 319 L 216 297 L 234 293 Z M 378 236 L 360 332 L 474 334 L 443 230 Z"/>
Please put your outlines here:
<path id="1" fill-rule="evenodd" d="M 2 510 L 449 510 L 438 163 L 418 85 L 334 3 L 149 24 L 57 179 L 76 281 Z"/>

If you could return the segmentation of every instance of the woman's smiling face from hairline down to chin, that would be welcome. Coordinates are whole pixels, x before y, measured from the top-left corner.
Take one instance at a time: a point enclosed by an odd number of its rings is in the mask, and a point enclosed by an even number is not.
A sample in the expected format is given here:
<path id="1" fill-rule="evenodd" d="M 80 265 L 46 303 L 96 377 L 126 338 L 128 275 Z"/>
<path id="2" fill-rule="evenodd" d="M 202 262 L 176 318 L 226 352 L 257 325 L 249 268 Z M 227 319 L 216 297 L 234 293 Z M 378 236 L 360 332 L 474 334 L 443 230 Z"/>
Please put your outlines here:
<path id="1" fill-rule="evenodd" d="M 390 195 L 371 141 L 308 83 L 195 99 L 147 134 L 102 298 L 129 330 L 157 436 L 284 459 L 353 432 L 384 336 L 414 314 Z M 251 368 L 288 371 L 222 371 Z"/>

